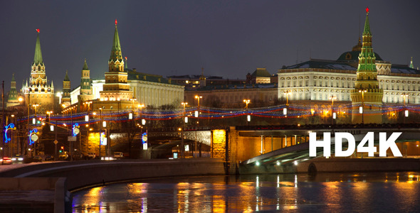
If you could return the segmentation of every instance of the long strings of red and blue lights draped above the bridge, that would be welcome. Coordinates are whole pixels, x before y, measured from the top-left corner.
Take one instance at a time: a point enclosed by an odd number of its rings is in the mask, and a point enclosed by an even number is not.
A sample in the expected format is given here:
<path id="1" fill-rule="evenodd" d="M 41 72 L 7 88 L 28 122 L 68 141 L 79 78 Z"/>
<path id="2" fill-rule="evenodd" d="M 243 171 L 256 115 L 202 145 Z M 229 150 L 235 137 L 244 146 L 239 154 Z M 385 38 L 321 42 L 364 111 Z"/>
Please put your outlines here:
<path id="1" fill-rule="evenodd" d="M 331 109 L 337 111 L 338 114 L 359 114 L 359 107 L 362 107 L 362 103 L 353 103 L 353 104 L 340 104 L 331 108 L 330 104 L 320 104 L 320 105 L 310 105 L 310 104 L 280 104 L 277 106 L 271 107 L 256 107 L 248 108 L 244 110 L 243 108 L 215 108 L 215 107 L 200 107 L 200 116 L 198 119 L 224 119 L 224 118 L 234 118 L 238 116 L 259 116 L 259 117 L 272 117 L 272 118 L 299 118 L 305 116 L 327 116 L 331 112 Z M 284 114 L 283 109 L 287 108 L 288 113 Z M 364 103 L 364 108 L 371 109 L 364 111 L 365 114 L 397 114 L 401 111 L 407 110 L 413 114 L 420 114 L 420 104 L 371 104 L 369 102 Z M 194 117 L 194 111 L 198 110 L 197 107 L 186 107 L 185 116 Z M 104 111 L 103 112 L 103 121 L 112 121 L 112 122 L 124 122 L 129 120 L 129 114 L 131 110 L 127 111 Z M 57 122 L 59 126 L 70 125 L 70 121 L 78 122 L 79 124 L 95 124 L 100 121 L 98 115 L 93 115 L 92 112 L 90 116 L 92 117 L 90 121 L 85 121 L 86 112 L 79 112 L 73 114 L 51 114 L 51 121 Z M 142 119 L 151 120 L 151 121 L 160 121 L 160 120 L 172 120 L 172 119 L 181 119 L 184 116 L 184 109 L 142 109 Z M 34 118 L 39 121 L 44 121 L 48 116 L 47 115 L 37 115 L 29 116 L 28 118 L 18 119 L 18 122 L 26 122 L 27 119 L 30 121 Z M 135 119 L 140 119 L 140 114 L 134 116 Z M 40 122 L 40 123 L 41 123 Z"/>

